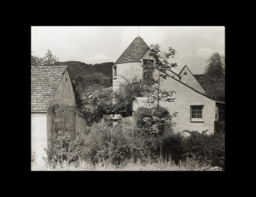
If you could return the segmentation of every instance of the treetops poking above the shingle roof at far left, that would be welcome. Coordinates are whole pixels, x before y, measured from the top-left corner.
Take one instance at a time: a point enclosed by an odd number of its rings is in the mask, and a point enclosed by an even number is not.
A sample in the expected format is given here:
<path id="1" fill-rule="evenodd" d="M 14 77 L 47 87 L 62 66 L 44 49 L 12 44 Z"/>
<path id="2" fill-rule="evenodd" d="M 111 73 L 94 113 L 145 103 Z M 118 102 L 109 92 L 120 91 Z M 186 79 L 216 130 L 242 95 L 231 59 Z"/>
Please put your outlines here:
<path id="1" fill-rule="evenodd" d="M 45 66 L 45 65 L 60 65 L 59 59 L 55 57 L 48 49 L 43 58 L 34 56 L 31 53 L 31 65 L 32 66 Z"/>

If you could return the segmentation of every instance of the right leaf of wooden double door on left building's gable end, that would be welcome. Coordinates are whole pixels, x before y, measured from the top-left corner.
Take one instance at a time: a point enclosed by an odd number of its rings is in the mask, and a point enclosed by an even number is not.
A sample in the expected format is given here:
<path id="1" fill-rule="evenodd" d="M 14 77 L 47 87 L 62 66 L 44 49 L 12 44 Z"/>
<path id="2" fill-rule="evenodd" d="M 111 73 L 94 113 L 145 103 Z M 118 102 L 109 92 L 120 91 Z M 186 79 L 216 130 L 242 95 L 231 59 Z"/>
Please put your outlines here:
<path id="1" fill-rule="evenodd" d="M 66 107 L 66 131 L 72 139 L 76 138 L 76 110 L 75 107 Z"/>

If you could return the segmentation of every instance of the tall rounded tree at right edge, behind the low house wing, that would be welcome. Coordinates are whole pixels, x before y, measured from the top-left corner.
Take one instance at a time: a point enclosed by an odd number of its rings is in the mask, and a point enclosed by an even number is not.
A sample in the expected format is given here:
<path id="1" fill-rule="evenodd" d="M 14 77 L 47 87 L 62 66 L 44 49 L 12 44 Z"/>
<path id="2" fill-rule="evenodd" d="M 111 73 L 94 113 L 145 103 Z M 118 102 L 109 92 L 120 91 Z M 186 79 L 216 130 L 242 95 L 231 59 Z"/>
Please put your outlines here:
<path id="1" fill-rule="evenodd" d="M 224 56 L 219 53 L 213 53 L 207 60 L 205 69 L 204 87 L 207 95 L 219 100 L 224 100 Z"/>

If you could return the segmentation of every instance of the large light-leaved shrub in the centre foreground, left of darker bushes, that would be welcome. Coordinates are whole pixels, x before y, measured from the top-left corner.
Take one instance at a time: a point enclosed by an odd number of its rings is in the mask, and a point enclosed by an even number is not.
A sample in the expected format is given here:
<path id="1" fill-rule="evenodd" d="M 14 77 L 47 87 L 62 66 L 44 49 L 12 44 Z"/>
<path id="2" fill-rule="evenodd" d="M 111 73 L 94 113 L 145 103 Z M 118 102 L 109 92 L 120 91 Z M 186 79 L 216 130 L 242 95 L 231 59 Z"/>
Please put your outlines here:
<path id="1" fill-rule="evenodd" d="M 125 131 L 121 125 L 105 127 L 94 124 L 86 128 L 86 133 L 80 135 L 70 145 L 73 160 L 82 160 L 98 163 L 110 161 L 119 165 L 125 160 L 156 159 L 159 151 L 157 138 L 135 134 L 134 131 Z"/>

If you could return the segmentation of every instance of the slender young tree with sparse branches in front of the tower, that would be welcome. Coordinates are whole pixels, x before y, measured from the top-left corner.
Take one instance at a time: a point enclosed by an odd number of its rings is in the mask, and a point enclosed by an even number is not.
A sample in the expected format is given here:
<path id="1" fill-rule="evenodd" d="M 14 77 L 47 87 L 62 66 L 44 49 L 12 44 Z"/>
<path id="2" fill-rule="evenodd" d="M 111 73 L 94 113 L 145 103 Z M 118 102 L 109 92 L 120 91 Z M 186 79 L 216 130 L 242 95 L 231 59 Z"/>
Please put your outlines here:
<path id="1" fill-rule="evenodd" d="M 160 133 L 160 128 L 167 125 L 169 127 L 174 126 L 175 123 L 171 123 L 172 117 L 177 116 L 177 112 L 172 113 L 172 115 L 160 115 L 160 101 L 162 102 L 174 102 L 175 98 L 172 98 L 174 91 L 166 91 L 160 89 L 160 82 L 164 82 L 167 77 L 172 77 L 169 71 L 177 66 L 177 63 L 169 63 L 168 59 L 173 58 L 176 50 L 172 47 L 169 48 L 167 53 L 160 52 L 159 44 L 150 45 L 150 56 L 155 59 L 155 64 L 153 61 L 143 61 L 143 75 L 150 83 L 147 87 L 148 99 L 145 101 L 147 104 L 156 105 L 157 111 L 152 110 L 152 120 L 154 120 L 153 129 L 151 132 Z M 161 60 L 161 61 L 160 61 Z M 151 119 L 150 119 L 151 120 Z M 149 120 L 149 121 L 150 121 Z M 148 119 L 145 121 L 148 121 Z M 149 124 L 150 122 L 148 122 Z M 150 125 L 150 124 L 149 124 Z"/>

